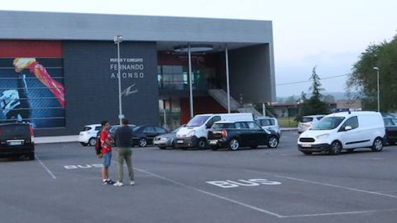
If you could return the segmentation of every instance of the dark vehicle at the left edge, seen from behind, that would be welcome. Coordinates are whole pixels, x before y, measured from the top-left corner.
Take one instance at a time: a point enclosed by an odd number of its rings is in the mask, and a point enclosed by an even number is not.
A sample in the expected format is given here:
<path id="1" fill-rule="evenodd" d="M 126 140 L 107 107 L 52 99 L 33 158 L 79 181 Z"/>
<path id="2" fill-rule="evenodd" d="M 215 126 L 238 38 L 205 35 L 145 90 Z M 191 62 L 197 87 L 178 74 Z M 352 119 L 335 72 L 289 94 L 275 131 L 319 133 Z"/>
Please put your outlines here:
<path id="1" fill-rule="evenodd" d="M 0 124 L 0 157 L 27 156 L 35 159 L 35 136 L 28 123 Z"/>

